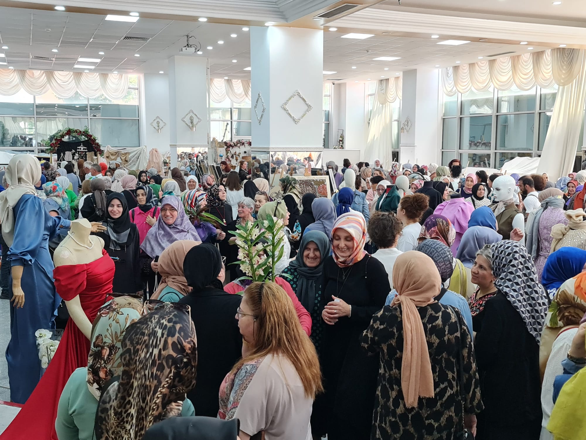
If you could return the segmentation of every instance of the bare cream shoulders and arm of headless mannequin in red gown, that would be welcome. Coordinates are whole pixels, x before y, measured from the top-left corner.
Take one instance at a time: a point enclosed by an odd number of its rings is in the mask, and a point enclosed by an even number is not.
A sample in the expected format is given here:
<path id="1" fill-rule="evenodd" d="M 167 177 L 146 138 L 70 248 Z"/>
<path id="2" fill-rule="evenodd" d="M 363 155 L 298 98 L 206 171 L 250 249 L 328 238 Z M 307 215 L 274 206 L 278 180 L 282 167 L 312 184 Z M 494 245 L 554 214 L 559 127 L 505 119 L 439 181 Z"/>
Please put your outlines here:
<path id="1" fill-rule="evenodd" d="M 71 222 L 71 229 L 67 233 L 53 255 L 55 267 L 65 265 L 88 264 L 102 257 L 104 241 L 96 235 L 90 235 L 91 224 L 87 219 L 79 219 Z M 79 244 L 81 243 L 81 244 Z M 89 249 L 91 247 L 91 249 Z M 91 336 L 91 322 L 81 308 L 79 295 L 65 302 L 69 316 L 76 323 L 87 339 Z"/>

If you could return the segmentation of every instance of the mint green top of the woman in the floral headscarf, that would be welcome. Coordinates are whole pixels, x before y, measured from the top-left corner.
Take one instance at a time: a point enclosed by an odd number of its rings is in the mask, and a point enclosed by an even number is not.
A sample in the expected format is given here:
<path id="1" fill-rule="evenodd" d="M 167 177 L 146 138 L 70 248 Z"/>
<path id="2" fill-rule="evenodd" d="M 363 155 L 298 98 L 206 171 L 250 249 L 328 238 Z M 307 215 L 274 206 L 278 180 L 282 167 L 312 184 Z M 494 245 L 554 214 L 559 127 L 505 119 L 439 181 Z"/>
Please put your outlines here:
<path id="1" fill-rule="evenodd" d="M 87 389 L 87 368 L 77 368 L 69 377 L 57 407 L 55 430 L 59 440 L 92 440 L 98 401 Z M 181 417 L 195 415 L 189 399 L 183 401 Z"/>

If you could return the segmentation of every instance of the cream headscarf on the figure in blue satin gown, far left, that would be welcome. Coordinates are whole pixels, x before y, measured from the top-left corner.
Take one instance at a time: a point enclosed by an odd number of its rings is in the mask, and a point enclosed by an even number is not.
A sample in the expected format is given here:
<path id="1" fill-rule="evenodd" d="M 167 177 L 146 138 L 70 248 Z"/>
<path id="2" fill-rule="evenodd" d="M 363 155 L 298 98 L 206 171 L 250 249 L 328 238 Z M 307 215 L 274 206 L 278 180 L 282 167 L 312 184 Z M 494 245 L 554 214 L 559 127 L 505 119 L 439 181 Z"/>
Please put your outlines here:
<path id="1" fill-rule="evenodd" d="M 0 192 L 0 222 L 2 236 L 8 246 L 14 240 L 14 212 L 12 209 L 25 194 L 36 195 L 35 184 L 40 180 L 40 164 L 30 154 L 13 155 L 6 167 L 8 189 Z"/>

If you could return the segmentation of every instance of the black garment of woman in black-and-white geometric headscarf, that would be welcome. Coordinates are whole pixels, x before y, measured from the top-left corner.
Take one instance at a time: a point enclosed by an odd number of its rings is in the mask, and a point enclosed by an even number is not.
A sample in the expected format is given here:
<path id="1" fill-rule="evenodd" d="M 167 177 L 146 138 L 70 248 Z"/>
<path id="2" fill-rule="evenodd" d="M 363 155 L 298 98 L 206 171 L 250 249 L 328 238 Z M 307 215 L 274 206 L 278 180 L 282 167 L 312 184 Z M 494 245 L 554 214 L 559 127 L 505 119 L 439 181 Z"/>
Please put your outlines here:
<path id="1" fill-rule="evenodd" d="M 485 406 L 476 440 L 535 440 L 541 430 L 539 344 L 503 293 L 485 303 L 475 351 Z"/>

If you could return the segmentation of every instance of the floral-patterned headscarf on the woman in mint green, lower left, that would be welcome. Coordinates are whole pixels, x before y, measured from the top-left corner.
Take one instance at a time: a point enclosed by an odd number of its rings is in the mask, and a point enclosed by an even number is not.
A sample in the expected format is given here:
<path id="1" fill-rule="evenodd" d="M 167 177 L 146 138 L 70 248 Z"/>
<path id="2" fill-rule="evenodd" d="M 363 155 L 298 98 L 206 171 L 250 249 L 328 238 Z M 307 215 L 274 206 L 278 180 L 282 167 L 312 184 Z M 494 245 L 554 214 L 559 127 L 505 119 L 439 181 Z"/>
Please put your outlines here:
<path id="1" fill-rule="evenodd" d="M 104 383 L 120 375 L 122 337 L 130 324 L 141 317 L 142 301 L 119 296 L 98 310 L 91 327 L 90 354 L 87 357 L 87 388 L 100 400 Z"/>

